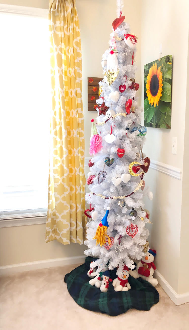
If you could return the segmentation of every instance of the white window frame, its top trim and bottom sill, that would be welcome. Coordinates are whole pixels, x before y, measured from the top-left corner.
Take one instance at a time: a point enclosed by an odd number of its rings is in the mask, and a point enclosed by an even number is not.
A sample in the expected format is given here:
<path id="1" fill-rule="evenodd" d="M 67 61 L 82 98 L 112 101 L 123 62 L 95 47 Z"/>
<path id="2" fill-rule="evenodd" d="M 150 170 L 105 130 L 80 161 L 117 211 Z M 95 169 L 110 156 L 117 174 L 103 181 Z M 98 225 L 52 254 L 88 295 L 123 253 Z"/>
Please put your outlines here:
<path id="1" fill-rule="evenodd" d="M 0 13 L 48 18 L 48 9 L 15 5 L 0 4 Z M 21 215 L 19 218 L 0 220 L 0 228 L 41 224 L 46 223 L 46 219 L 47 217 L 44 214 L 43 216 L 36 214 L 33 217 L 22 217 Z"/>

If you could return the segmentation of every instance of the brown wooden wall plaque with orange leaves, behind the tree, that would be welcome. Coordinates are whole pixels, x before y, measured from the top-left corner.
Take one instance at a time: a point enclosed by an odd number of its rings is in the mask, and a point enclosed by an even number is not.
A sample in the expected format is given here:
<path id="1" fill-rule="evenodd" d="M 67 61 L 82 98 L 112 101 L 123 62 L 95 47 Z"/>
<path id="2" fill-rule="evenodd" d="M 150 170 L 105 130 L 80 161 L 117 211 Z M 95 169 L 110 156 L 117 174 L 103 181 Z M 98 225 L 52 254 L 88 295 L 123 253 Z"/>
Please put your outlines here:
<path id="1" fill-rule="evenodd" d="M 94 78 L 88 77 L 88 111 L 96 111 L 96 99 L 99 98 L 98 90 L 99 90 L 99 82 L 103 80 L 103 78 Z"/>

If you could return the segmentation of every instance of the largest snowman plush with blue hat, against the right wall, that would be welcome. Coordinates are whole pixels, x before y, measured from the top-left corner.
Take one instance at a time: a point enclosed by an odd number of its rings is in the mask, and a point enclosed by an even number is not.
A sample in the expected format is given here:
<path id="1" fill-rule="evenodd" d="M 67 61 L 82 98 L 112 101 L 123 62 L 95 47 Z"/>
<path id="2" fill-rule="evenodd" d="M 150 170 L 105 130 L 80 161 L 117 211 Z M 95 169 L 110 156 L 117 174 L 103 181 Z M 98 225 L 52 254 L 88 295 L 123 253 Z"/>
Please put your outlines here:
<path id="1" fill-rule="evenodd" d="M 158 281 L 153 278 L 156 266 L 153 261 L 156 256 L 156 250 L 149 249 L 142 257 L 142 260 L 137 263 L 136 270 L 130 271 L 130 275 L 135 279 L 141 277 L 143 280 L 150 282 L 153 286 L 158 285 Z"/>

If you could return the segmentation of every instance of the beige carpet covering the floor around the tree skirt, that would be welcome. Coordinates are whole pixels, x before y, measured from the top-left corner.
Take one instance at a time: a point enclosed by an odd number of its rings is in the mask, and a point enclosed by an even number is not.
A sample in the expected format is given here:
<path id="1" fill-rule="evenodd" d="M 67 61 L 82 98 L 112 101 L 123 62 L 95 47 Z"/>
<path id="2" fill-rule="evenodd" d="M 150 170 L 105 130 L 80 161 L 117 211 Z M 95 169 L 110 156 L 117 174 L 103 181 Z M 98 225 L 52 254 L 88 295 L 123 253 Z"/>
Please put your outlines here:
<path id="1" fill-rule="evenodd" d="M 64 275 L 75 266 L 1 278 L 1 330 L 189 330 L 189 304 L 175 306 L 158 285 L 160 302 L 150 311 L 119 316 L 87 311 L 68 293 Z"/>

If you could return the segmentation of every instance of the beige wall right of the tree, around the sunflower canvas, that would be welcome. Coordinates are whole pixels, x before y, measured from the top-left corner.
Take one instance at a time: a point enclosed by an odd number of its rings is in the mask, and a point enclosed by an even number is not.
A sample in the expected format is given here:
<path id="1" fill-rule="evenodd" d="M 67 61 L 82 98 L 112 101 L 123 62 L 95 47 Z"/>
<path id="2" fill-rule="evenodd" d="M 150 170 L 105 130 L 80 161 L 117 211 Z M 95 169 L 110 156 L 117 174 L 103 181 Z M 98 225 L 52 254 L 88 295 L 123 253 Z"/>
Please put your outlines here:
<path id="1" fill-rule="evenodd" d="M 141 12 L 141 80 L 144 64 L 167 54 L 173 56 L 171 129 L 148 128 L 144 151 L 153 160 L 182 170 L 186 110 L 186 77 L 188 57 L 189 2 L 177 0 L 144 0 Z M 159 53 L 160 44 L 163 53 Z M 142 100 L 143 100 L 142 95 Z M 142 101 L 143 104 L 143 101 Z M 186 128 L 187 128 L 186 124 Z M 172 137 L 177 136 L 177 154 L 171 153 Z M 187 141 L 187 140 L 186 140 Z M 186 146 L 186 145 L 185 145 Z M 186 147 L 185 147 L 186 148 Z M 183 182 L 186 177 L 183 174 Z M 178 292 L 189 291 L 180 281 L 180 244 L 182 180 L 173 179 L 155 170 L 145 178 L 154 193 L 153 202 L 147 201 L 151 211 L 151 247 L 157 250 L 156 266 L 165 280 Z M 184 204 L 183 204 L 184 206 Z M 186 209 L 183 210 L 186 214 Z M 183 222 L 183 233 L 185 224 Z M 181 236 L 180 236 L 181 235 Z M 184 241 L 183 241 L 184 242 Z M 181 244 L 182 246 L 182 244 Z M 183 265 L 187 252 L 183 248 Z"/>

